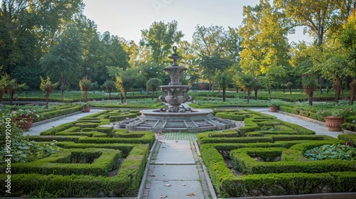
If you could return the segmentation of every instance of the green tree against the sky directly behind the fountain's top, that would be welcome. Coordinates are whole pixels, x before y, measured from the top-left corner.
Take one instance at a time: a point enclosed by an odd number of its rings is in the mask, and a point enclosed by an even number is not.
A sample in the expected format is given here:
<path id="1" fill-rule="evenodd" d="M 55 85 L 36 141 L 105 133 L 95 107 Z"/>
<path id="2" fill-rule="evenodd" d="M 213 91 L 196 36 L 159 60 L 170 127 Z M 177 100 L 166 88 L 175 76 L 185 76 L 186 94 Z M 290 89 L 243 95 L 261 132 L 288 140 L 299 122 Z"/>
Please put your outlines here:
<path id="1" fill-rule="evenodd" d="M 140 45 L 150 48 L 153 62 L 165 63 L 174 43 L 178 43 L 184 36 L 182 31 L 177 31 L 177 26 L 177 21 L 167 24 L 164 21 L 155 21 L 149 29 L 141 31 Z"/>

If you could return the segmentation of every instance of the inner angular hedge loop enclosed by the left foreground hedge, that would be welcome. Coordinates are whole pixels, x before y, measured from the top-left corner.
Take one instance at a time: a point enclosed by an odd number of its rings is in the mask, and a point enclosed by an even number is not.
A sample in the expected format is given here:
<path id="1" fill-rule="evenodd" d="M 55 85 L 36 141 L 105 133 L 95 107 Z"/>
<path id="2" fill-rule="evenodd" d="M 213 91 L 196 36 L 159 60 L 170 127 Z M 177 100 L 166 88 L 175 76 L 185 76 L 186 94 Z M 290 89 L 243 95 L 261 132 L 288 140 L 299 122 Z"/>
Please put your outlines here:
<path id="1" fill-rule="evenodd" d="M 41 173 L 43 175 L 108 176 L 109 171 L 118 168 L 120 165 L 121 156 L 121 152 L 114 149 L 63 149 L 61 153 L 52 154 L 38 161 L 13 163 L 11 171 L 14 173 Z M 79 159 L 83 159 L 85 163 L 76 163 Z"/>

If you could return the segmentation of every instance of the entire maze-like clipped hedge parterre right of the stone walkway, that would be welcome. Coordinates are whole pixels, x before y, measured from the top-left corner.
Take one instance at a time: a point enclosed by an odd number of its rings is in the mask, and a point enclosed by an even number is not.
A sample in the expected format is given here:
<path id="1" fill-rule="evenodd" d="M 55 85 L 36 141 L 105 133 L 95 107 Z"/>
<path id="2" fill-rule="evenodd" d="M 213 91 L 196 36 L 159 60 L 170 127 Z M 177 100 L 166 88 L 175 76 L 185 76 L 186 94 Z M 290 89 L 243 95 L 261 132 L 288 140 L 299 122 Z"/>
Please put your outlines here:
<path id="1" fill-rule="evenodd" d="M 261 112 L 240 109 L 229 112 L 239 115 L 236 118 L 244 118 L 245 127 L 238 131 L 198 134 L 201 158 L 218 197 L 356 190 L 356 161 L 352 158 L 313 161 L 304 156 L 306 151 L 322 149 L 326 144 L 348 149 L 342 144 L 345 139 L 350 141 L 350 137 L 335 139 L 315 135 L 297 124 L 279 121 Z"/>

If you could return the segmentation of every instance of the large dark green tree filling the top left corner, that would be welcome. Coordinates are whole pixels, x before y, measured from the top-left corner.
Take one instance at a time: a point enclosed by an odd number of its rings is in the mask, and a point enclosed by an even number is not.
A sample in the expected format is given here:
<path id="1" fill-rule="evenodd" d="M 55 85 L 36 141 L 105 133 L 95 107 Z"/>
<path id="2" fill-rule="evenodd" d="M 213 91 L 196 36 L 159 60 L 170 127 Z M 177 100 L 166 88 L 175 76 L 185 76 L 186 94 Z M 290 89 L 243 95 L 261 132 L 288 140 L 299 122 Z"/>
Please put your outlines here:
<path id="1" fill-rule="evenodd" d="M 18 66 L 37 68 L 52 38 L 82 10 L 81 0 L 1 1 L 0 68 L 9 75 Z"/>

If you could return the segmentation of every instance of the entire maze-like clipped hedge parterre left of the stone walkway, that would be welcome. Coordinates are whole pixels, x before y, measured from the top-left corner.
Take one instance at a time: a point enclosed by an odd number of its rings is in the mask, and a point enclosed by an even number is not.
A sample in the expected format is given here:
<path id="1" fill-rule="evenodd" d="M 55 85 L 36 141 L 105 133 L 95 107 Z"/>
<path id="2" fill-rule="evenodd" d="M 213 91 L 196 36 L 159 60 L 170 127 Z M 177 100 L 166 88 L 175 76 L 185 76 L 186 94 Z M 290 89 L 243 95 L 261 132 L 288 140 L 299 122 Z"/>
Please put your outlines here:
<path id="1" fill-rule="evenodd" d="M 12 163 L 11 197 L 136 197 L 155 136 L 113 129 L 110 121 L 120 115 L 130 117 L 130 112 L 106 110 L 29 136 L 60 151 Z M 6 175 L 0 179 L 6 181 Z M 1 189 L 0 196 L 9 195 Z"/>

